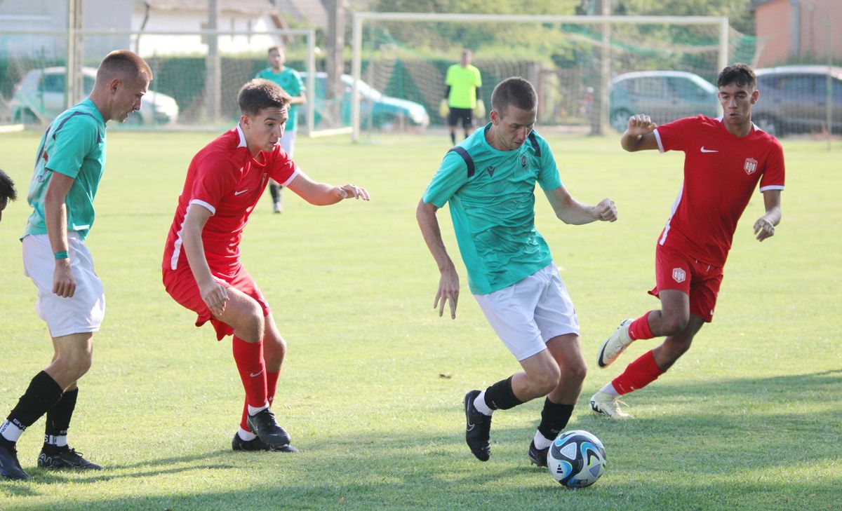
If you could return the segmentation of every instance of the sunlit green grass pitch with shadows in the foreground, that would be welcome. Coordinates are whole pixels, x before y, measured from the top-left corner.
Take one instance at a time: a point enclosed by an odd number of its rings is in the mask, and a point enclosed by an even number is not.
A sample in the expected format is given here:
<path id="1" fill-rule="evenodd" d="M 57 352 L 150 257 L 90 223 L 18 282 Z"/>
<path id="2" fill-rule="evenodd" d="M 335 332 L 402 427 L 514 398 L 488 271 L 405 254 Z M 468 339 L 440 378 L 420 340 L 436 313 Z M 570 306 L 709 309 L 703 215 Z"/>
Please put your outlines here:
<path id="1" fill-rule="evenodd" d="M 331 208 L 290 192 L 285 213 L 258 206 L 243 259 L 289 344 L 276 413 L 301 452 L 234 453 L 242 387 L 230 340 L 163 291 L 160 261 L 192 155 L 214 134 L 109 134 L 108 166 L 88 246 L 108 310 L 81 382 L 71 444 L 102 472 L 35 466 L 43 420 L 19 442 L 29 482 L 0 482 L 0 509 L 839 509 L 842 508 L 842 143 L 786 141 L 787 190 L 775 237 L 737 231 L 717 319 L 658 382 L 626 399 L 629 421 L 587 399 L 656 341 L 600 370 L 616 324 L 658 303 L 654 245 L 681 182 L 683 155 L 629 155 L 617 137 L 548 136 L 575 198 L 610 197 L 615 224 L 568 226 L 541 195 L 538 229 L 576 303 L 589 375 L 568 429 L 587 429 L 609 466 L 565 490 L 526 450 L 541 402 L 494 416 L 491 461 L 464 445 L 461 400 L 519 366 L 465 290 L 456 320 L 432 305 L 438 271 L 415 206 L 448 140 L 384 136 L 299 140 L 311 176 L 369 189 Z M 25 196 L 40 134 L 0 135 L 0 167 Z M 834 163 L 834 161 L 836 163 Z M 29 208 L 0 224 L 0 414 L 51 357 L 20 245 Z M 458 260 L 449 214 L 445 243 Z"/>

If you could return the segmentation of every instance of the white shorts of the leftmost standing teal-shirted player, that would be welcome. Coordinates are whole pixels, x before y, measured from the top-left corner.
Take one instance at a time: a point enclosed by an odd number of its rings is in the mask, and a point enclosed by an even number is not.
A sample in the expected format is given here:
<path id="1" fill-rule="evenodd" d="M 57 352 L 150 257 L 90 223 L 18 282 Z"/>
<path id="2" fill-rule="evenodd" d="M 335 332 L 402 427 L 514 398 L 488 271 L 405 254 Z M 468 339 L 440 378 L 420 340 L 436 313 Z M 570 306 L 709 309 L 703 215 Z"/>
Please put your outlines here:
<path id="1" fill-rule="evenodd" d="M 76 292 L 61 298 L 52 292 L 56 258 L 47 234 L 24 238 L 24 273 L 38 287 L 35 312 L 50 328 L 52 337 L 96 332 L 105 315 L 103 283 L 93 271 L 93 258 L 76 233 L 67 233 L 70 270 L 76 279 Z"/>

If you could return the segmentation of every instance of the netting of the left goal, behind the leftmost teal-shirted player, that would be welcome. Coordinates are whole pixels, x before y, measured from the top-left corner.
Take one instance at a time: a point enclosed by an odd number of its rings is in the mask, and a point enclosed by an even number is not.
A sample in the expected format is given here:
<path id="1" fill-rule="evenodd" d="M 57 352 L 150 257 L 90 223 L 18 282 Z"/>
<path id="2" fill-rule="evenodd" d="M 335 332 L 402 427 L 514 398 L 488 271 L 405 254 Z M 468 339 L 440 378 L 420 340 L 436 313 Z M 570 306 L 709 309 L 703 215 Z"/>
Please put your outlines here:
<path id="1" fill-rule="evenodd" d="M 216 38 L 217 51 L 209 50 Z M 3 28 L 0 34 L 0 124 L 48 124 L 68 104 L 87 97 L 99 62 L 111 50 L 133 50 L 152 68 L 154 80 L 140 113 L 126 124 L 156 129 L 226 129 L 240 112 L 237 92 L 258 71 L 269 66 L 271 46 L 285 49 L 286 66 L 301 72 L 312 98 L 299 108 L 302 132 L 336 129 L 343 119 L 320 115 L 312 29 L 237 30 L 35 31 Z M 68 65 L 69 62 L 69 65 Z M 310 71 L 310 72 L 308 72 Z M 68 76 L 70 79 L 68 80 Z M 323 81 L 323 78 L 322 78 Z M 344 125 L 349 125 L 349 119 Z"/>

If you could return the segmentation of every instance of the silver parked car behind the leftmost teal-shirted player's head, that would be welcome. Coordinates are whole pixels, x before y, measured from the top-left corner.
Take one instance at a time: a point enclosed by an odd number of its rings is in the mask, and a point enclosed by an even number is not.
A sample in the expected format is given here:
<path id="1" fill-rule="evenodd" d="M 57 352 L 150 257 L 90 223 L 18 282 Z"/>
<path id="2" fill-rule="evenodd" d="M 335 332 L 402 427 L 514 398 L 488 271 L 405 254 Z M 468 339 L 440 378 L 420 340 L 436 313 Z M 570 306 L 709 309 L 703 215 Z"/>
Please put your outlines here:
<path id="1" fill-rule="evenodd" d="M 82 68 L 82 87 L 85 97 L 93 90 L 97 70 Z M 14 87 L 8 103 L 9 116 L 14 123 L 49 123 L 64 111 L 64 89 L 66 71 L 64 67 L 33 69 L 24 75 Z M 149 91 L 143 97 L 141 110 L 131 113 L 126 123 L 170 124 L 179 119 L 179 105 L 175 99 L 160 92 Z"/>

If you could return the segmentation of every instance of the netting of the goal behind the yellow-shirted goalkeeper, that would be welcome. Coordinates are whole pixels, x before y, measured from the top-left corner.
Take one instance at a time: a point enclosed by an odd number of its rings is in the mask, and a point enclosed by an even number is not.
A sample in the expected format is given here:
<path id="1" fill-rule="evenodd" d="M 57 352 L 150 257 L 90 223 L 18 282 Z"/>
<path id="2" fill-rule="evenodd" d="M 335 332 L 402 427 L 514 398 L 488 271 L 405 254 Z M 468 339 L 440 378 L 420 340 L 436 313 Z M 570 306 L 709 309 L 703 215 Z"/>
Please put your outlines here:
<path id="1" fill-rule="evenodd" d="M 727 18 L 354 13 L 360 87 L 424 105 L 433 126 L 446 122 L 445 73 L 465 49 L 489 109 L 498 82 L 523 76 L 538 92 L 541 125 L 594 134 L 638 111 L 657 122 L 716 114 L 718 72 L 754 60 L 754 38 Z M 650 72 L 628 74 L 638 71 Z M 354 103 L 354 140 L 368 128 L 365 101 Z"/>

